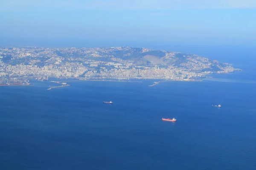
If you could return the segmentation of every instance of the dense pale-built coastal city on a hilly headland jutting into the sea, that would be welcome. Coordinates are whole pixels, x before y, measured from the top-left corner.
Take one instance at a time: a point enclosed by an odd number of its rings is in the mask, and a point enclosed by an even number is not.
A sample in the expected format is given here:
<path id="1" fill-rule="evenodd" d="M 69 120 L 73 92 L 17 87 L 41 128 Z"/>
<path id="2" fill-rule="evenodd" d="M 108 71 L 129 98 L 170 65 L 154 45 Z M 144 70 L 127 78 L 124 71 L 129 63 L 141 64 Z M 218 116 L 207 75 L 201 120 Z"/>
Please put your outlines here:
<path id="1" fill-rule="evenodd" d="M 239 69 L 198 55 L 148 48 L 0 48 L 0 84 L 17 77 L 195 81 L 233 71 Z"/>

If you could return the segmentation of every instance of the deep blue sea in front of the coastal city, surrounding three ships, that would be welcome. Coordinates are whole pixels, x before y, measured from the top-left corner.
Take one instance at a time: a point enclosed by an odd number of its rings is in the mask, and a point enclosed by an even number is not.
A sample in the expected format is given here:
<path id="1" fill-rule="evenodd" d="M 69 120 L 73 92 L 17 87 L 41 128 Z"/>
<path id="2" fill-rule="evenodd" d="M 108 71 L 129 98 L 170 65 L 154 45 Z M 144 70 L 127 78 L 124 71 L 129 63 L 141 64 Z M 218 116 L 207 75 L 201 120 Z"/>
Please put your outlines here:
<path id="1" fill-rule="evenodd" d="M 33 84 L 0 88 L 0 170 L 256 168 L 256 83 Z"/>

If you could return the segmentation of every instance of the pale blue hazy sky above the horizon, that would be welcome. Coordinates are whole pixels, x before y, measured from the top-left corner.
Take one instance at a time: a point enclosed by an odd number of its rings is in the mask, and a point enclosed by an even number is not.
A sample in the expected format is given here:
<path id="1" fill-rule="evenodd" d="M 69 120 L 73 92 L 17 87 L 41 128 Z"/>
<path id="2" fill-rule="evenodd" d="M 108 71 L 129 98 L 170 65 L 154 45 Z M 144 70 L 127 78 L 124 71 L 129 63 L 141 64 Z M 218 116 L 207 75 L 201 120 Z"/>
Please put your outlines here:
<path id="1" fill-rule="evenodd" d="M 255 44 L 256 0 L 0 0 L 4 40 Z"/>

